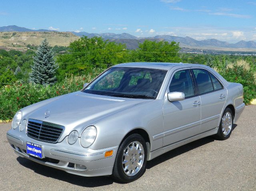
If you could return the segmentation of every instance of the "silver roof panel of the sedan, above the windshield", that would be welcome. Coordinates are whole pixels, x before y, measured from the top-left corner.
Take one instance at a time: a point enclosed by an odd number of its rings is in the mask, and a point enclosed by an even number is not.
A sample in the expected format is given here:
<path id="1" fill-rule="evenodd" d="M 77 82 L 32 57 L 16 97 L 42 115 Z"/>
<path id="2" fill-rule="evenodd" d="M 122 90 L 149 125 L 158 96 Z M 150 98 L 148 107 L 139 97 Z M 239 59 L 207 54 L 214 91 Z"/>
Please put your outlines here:
<path id="1" fill-rule="evenodd" d="M 114 67 L 138 67 L 170 70 L 174 66 L 189 65 L 186 63 L 168 63 L 168 62 L 130 62 L 114 65 Z M 187 66 L 188 67 L 188 66 Z"/>

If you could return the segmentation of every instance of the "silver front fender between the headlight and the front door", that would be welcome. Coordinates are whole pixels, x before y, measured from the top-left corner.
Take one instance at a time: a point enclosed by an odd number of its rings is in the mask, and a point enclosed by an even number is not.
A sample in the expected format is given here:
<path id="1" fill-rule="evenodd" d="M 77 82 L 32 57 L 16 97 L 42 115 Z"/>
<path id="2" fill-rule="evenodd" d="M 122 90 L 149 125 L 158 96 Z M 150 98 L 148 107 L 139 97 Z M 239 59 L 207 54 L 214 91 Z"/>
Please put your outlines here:
<path id="1" fill-rule="evenodd" d="M 162 147 L 163 140 L 153 141 L 153 135 L 163 132 L 163 100 L 152 100 L 118 112 L 94 124 L 97 137 L 90 148 L 100 149 L 120 145 L 124 137 L 136 128 L 145 130 L 150 139 L 150 150 Z"/>

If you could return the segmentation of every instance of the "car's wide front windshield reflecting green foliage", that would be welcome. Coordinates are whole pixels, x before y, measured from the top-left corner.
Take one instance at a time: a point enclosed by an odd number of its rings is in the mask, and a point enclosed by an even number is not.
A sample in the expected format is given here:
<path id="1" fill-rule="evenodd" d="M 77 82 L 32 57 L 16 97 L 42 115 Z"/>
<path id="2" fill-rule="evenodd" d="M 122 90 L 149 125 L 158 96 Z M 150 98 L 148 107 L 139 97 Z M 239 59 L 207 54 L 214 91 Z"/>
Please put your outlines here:
<path id="1" fill-rule="evenodd" d="M 166 70 L 112 67 L 92 82 L 84 93 L 114 97 L 155 99 Z"/>

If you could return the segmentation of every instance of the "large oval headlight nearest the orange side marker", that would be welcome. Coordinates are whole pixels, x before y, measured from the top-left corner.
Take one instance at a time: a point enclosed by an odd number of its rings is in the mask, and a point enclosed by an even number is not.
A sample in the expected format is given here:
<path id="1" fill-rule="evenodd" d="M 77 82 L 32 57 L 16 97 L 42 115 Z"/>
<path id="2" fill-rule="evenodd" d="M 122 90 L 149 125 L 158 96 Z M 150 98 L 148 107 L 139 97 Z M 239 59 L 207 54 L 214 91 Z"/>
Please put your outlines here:
<path id="1" fill-rule="evenodd" d="M 97 129 L 94 126 L 88 126 L 82 132 L 80 143 L 84 148 L 91 146 L 96 139 Z"/>

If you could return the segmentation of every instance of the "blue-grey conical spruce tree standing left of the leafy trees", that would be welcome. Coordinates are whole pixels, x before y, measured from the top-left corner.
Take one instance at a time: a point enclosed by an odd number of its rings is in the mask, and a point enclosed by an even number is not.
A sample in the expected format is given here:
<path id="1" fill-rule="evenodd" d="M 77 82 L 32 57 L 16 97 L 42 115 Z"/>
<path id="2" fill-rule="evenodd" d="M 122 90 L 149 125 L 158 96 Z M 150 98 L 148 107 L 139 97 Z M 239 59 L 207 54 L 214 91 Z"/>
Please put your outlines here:
<path id="1" fill-rule="evenodd" d="M 55 63 L 54 52 L 46 39 L 39 45 L 36 56 L 33 57 L 33 63 L 32 72 L 29 74 L 30 82 L 42 85 L 56 83 L 55 73 L 58 65 Z"/>

